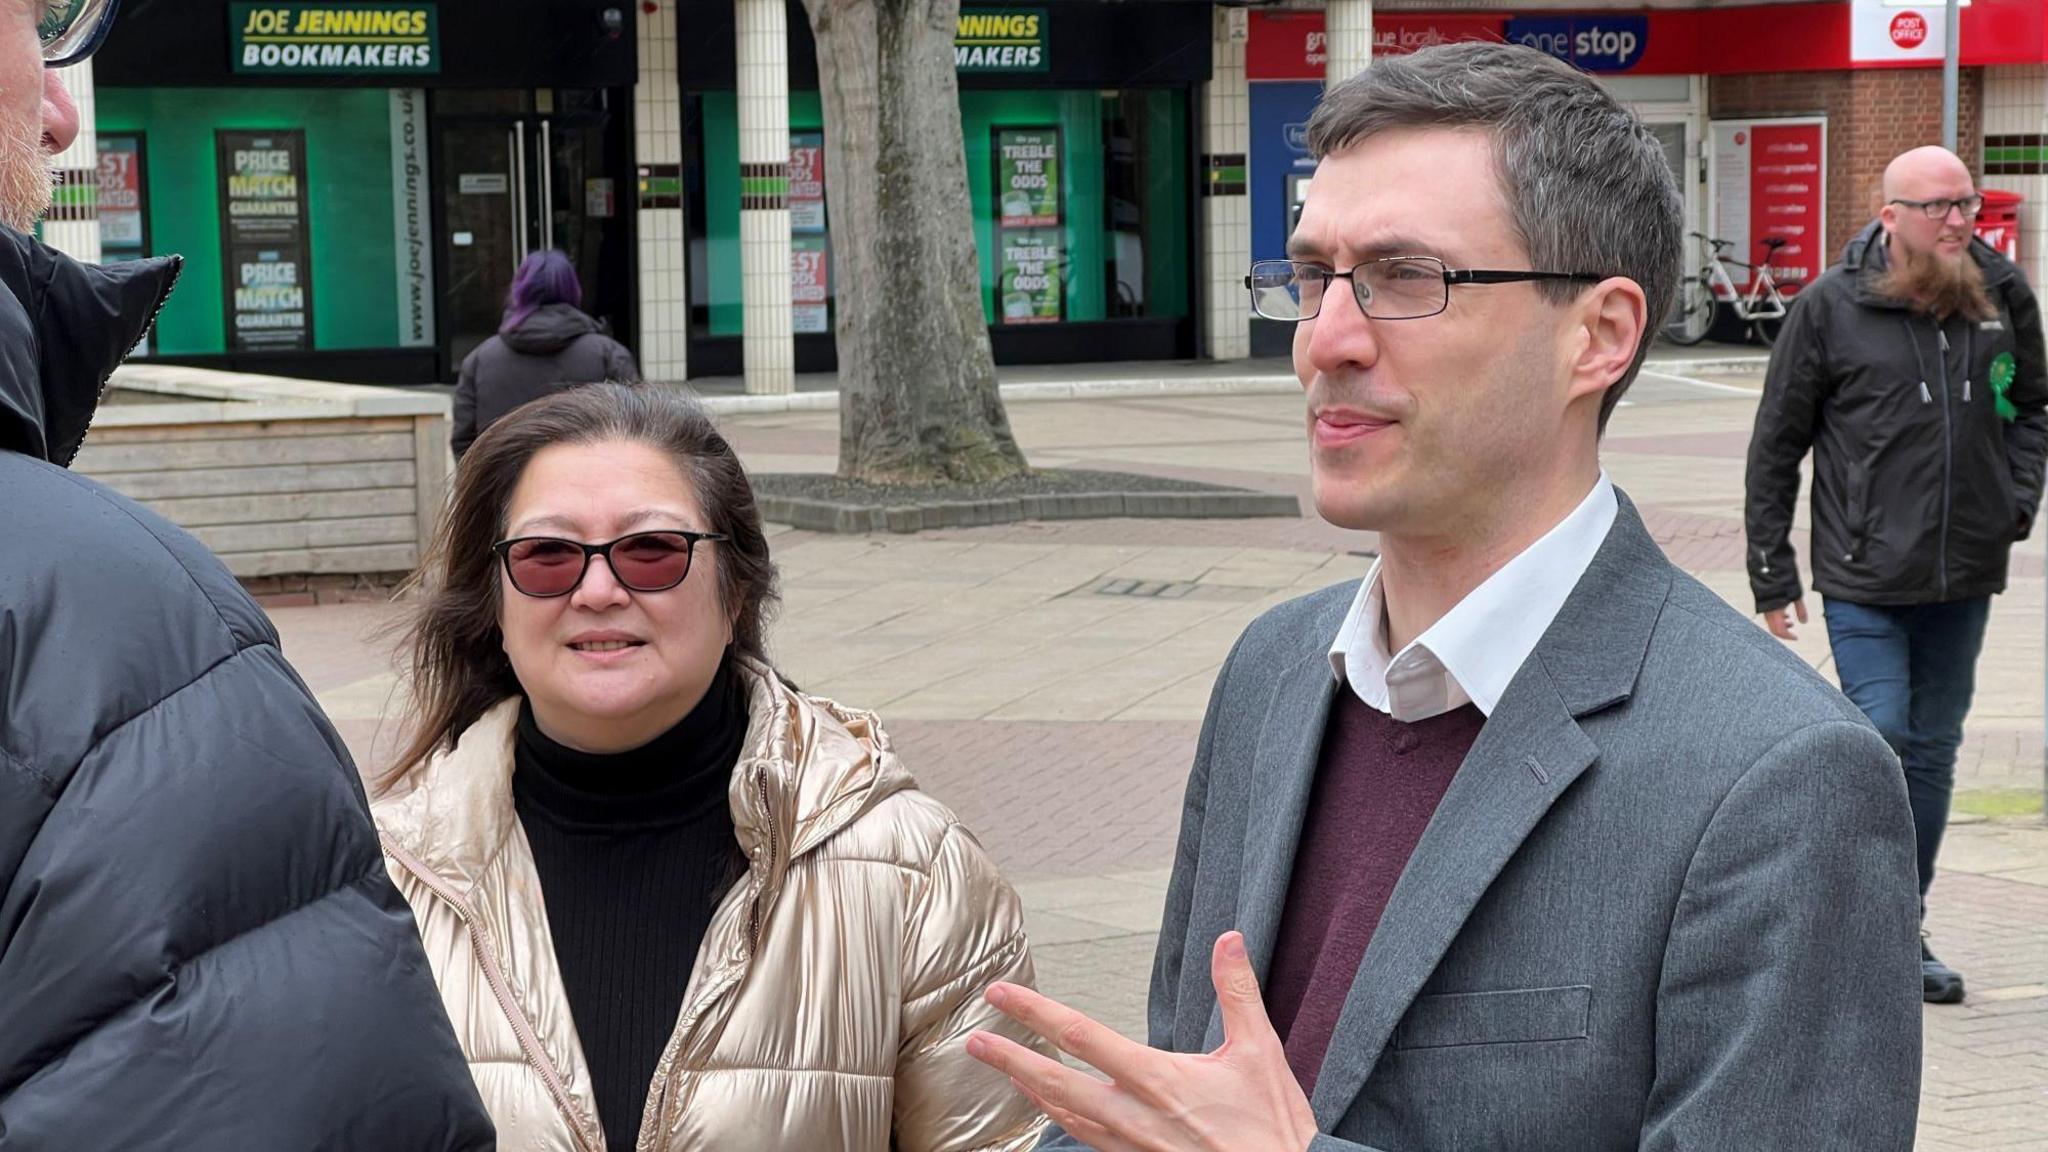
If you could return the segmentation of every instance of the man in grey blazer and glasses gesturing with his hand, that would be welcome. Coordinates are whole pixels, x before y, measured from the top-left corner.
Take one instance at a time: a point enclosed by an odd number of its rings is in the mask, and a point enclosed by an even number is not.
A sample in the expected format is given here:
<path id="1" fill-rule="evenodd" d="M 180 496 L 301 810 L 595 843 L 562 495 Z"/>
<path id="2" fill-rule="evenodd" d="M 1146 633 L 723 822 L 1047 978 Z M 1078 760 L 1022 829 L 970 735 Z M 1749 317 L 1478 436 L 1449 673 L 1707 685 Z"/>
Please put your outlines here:
<path id="1" fill-rule="evenodd" d="M 1913 822 L 1868 722 L 1675 570 L 1599 467 L 1679 269 L 1653 135 L 1548 55 L 1376 59 L 1309 123 L 1290 260 L 1319 512 L 1360 584 L 1217 681 L 1151 1045 L 969 1047 L 1044 1148 L 1913 1146 Z"/>

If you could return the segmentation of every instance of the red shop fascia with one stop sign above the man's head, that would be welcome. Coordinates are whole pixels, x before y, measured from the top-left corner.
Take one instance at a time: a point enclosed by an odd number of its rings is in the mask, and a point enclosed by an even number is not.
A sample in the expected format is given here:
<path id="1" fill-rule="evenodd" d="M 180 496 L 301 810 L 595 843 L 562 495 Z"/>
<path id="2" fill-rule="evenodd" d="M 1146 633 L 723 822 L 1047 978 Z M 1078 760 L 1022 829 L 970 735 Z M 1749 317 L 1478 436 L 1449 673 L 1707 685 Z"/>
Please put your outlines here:
<path id="1" fill-rule="evenodd" d="M 1851 68 L 1939 68 L 1939 59 L 1858 59 L 1853 6 L 1843 0 L 1638 12 L 1374 12 L 1372 55 L 1456 41 L 1518 41 L 1595 74 L 1739 76 Z M 1907 45 L 1913 18 L 1942 20 L 1942 2 L 1888 12 Z M 1962 66 L 2048 64 L 2048 2 L 1974 0 L 1960 12 Z M 1919 25 L 1927 35 L 1929 25 Z M 1905 39 L 1901 39 L 1905 37 Z M 1251 12 L 1247 80 L 1323 80 L 1323 12 Z"/>

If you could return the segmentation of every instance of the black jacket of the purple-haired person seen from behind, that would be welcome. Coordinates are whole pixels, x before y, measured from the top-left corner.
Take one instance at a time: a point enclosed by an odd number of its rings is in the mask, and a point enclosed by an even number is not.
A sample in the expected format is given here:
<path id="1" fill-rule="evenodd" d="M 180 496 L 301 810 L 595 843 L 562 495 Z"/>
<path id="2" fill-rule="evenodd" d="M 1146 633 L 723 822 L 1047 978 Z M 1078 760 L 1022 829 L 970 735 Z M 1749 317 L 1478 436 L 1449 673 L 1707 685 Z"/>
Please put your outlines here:
<path id="1" fill-rule="evenodd" d="M 537 307 L 516 328 L 463 357 L 449 445 L 463 455 L 483 428 L 520 404 L 602 381 L 639 383 L 633 353 L 580 307 Z"/>

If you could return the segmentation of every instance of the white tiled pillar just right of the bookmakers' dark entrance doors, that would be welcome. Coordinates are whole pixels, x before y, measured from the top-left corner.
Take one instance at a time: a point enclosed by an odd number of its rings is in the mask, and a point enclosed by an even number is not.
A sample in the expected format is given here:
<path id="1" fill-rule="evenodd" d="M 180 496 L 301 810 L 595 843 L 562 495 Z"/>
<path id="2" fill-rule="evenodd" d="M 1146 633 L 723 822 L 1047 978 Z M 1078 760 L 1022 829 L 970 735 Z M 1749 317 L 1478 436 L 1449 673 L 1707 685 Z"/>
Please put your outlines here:
<path id="1" fill-rule="evenodd" d="M 639 166 L 639 365 L 645 379 L 684 379 L 690 283 L 682 223 L 682 92 L 676 84 L 674 0 L 639 6 L 633 123 L 633 162 Z"/>

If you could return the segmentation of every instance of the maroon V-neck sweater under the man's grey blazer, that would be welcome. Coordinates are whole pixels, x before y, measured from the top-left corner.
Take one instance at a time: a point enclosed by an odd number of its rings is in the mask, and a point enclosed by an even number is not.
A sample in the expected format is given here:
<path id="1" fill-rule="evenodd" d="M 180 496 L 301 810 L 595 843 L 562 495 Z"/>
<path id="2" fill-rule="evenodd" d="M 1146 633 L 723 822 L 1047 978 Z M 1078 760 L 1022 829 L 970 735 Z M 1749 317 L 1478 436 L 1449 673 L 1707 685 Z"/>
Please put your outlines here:
<path id="1" fill-rule="evenodd" d="M 1305 1093 L 1386 898 L 1485 722 L 1464 705 L 1401 724 L 1337 687 L 1266 974 L 1266 1011 Z"/>

